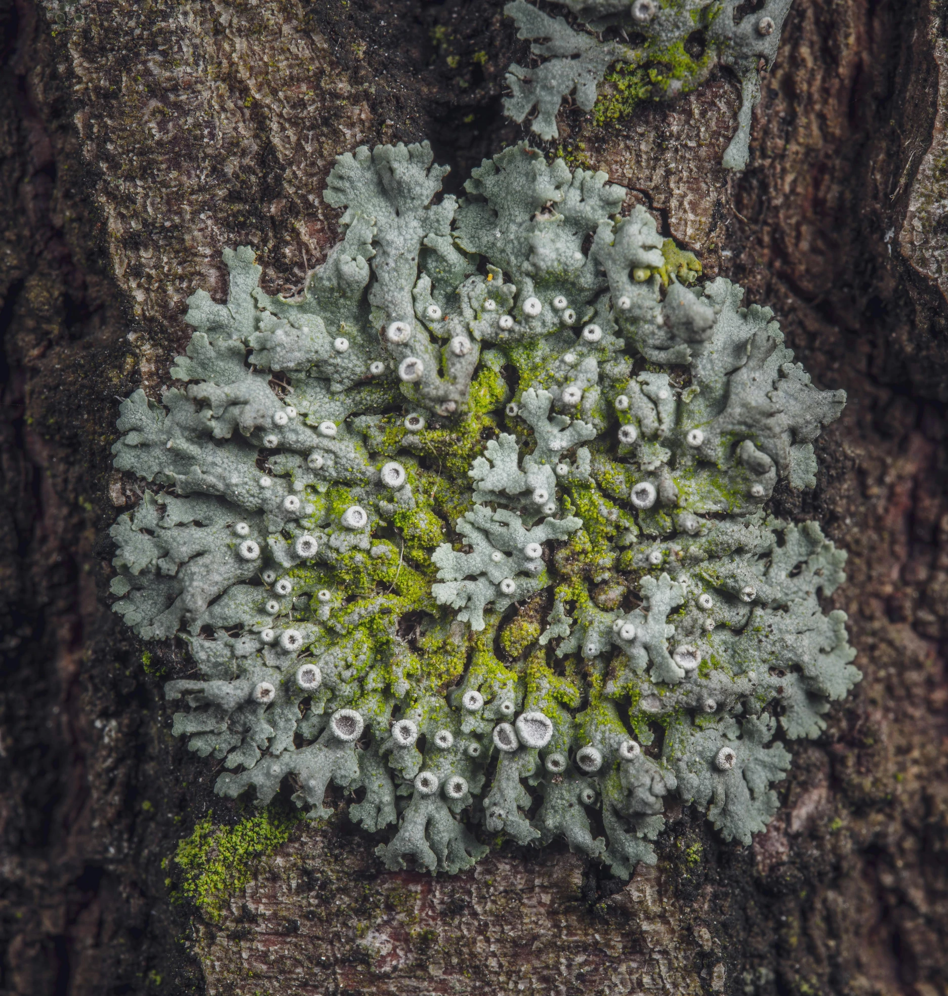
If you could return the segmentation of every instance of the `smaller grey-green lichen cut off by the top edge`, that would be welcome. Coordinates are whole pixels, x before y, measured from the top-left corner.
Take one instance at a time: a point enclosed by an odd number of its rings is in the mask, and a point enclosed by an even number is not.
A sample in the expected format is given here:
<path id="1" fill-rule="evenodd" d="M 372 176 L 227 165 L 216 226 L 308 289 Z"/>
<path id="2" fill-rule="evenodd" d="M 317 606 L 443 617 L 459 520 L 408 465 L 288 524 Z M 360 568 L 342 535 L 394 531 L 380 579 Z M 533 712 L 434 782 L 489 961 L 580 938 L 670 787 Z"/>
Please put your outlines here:
<path id="1" fill-rule="evenodd" d="M 532 69 L 511 65 L 508 117 L 522 122 L 536 108 L 531 128 L 542 138 L 555 138 L 562 102 L 573 95 L 584 111 L 592 111 L 596 85 L 603 79 L 615 94 L 596 107 L 596 124 L 626 114 L 641 101 L 694 90 L 720 64 L 741 82 L 738 129 L 722 161 L 728 169 L 746 167 L 751 116 L 761 97 L 758 67 L 761 60 L 767 68 L 773 65 L 793 0 L 765 0 L 759 10 L 740 17 L 740 0 L 551 2 L 567 7 L 587 30 L 576 30 L 526 0 L 507 4 L 504 10 L 520 29 L 519 37 L 531 41 L 531 54 L 546 58 Z M 609 67 L 615 68 L 606 76 Z"/>

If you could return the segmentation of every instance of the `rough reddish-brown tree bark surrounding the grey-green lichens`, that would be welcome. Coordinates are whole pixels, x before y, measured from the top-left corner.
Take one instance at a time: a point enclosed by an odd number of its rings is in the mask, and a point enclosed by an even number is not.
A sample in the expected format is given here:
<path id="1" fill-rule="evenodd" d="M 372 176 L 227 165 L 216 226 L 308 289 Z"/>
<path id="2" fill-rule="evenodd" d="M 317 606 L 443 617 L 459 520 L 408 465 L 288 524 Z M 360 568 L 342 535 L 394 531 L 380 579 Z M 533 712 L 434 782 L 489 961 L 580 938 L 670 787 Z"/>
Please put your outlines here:
<path id="1" fill-rule="evenodd" d="M 798 0 L 740 174 L 725 71 L 615 124 L 561 116 L 565 151 L 848 392 L 817 488 L 774 506 L 848 550 L 864 679 L 794 746 L 768 832 L 723 845 L 668 813 L 624 884 L 565 847 L 386 872 L 343 818 L 298 824 L 216 919 L 166 860 L 238 810 L 170 736 L 180 660 L 143 665 L 105 598 L 117 397 L 168 384 L 223 247 L 252 245 L 271 292 L 324 258 L 336 154 L 428 137 L 456 190 L 517 140 L 525 44 L 500 0 L 2 0 L 0 24 L 0 992 L 948 992 L 948 4 Z"/>

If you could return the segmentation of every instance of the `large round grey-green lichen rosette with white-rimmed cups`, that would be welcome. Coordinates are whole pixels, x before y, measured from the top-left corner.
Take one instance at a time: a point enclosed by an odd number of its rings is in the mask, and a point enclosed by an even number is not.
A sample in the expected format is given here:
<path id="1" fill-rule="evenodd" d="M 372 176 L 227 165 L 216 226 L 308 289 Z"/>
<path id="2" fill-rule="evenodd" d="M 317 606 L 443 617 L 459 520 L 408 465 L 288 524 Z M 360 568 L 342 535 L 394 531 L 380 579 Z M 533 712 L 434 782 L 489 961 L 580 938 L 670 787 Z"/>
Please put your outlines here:
<path id="1" fill-rule="evenodd" d="M 218 793 L 317 819 L 332 782 L 389 868 L 562 837 L 627 876 L 670 794 L 746 844 L 859 678 L 845 555 L 765 511 L 844 395 L 603 173 L 520 145 L 432 204 L 443 172 L 340 156 L 298 299 L 225 252 L 179 385 L 121 405 L 115 609 L 189 645 Z"/>

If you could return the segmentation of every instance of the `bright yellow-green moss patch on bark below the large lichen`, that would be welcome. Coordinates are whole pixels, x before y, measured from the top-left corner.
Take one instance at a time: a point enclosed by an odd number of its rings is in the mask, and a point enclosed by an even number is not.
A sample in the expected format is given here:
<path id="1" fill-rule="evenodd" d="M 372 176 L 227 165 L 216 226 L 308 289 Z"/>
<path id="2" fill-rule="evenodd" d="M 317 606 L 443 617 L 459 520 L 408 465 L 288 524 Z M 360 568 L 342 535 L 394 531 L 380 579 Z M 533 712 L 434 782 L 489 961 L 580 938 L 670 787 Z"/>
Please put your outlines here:
<path id="1" fill-rule="evenodd" d="M 227 901 L 251 880 L 257 863 L 285 844 L 301 819 L 271 806 L 235 827 L 215 827 L 209 813 L 177 846 L 174 864 L 180 878 L 174 897 L 190 900 L 205 919 L 219 922 Z"/>

